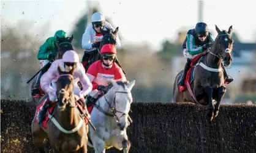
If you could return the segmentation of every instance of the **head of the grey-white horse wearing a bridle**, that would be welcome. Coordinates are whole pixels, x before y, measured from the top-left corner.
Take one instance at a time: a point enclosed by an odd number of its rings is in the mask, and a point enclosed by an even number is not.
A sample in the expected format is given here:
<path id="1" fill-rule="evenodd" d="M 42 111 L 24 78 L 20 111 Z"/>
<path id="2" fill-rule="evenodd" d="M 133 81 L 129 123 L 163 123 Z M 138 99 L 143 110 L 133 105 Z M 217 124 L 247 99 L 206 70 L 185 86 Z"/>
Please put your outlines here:
<path id="1" fill-rule="evenodd" d="M 122 82 L 111 80 L 108 88 L 108 96 L 111 96 L 111 108 L 116 115 L 118 126 L 121 130 L 129 126 L 128 116 L 130 111 L 130 104 L 132 104 L 132 87 L 135 85 L 135 80 L 132 82 Z"/>

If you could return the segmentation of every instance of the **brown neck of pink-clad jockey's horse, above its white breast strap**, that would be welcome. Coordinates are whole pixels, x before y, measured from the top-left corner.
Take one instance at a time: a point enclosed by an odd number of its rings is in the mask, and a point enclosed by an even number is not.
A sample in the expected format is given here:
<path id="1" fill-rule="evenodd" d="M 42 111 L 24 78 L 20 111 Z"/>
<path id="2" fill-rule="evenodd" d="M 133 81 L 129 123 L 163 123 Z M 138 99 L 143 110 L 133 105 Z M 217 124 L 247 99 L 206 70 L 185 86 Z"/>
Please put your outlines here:
<path id="1" fill-rule="evenodd" d="M 75 97 L 72 96 L 70 98 L 72 103 L 75 103 Z M 72 104 L 74 105 L 74 104 Z M 70 105 L 66 105 L 65 110 L 59 110 L 57 111 L 58 113 L 58 119 L 59 124 L 61 124 L 62 127 L 67 128 L 67 129 L 72 129 L 74 126 L 77 126 L 79 122 L 79 115 L 77 115 L 77 108 L 76 107 L 70 107 Z"/>

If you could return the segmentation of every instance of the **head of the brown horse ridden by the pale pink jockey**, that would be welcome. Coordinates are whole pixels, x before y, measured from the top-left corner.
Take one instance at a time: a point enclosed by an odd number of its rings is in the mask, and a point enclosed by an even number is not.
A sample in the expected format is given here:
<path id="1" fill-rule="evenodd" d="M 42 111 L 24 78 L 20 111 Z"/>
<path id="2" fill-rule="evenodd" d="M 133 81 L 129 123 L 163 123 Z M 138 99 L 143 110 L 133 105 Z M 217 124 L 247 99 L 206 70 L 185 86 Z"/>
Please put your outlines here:
<path id="1" fill-rule="evenodd" d="M 63 110 L 67 104 L 72 104 L 73 97 L 73 72 L 75 69 L 66 72 L 58 66 L 59 78 L 56 82 L 56 91 L 58 98 L 58 107 Z M 73 107 L 73 106 L 71 106 Z"/>

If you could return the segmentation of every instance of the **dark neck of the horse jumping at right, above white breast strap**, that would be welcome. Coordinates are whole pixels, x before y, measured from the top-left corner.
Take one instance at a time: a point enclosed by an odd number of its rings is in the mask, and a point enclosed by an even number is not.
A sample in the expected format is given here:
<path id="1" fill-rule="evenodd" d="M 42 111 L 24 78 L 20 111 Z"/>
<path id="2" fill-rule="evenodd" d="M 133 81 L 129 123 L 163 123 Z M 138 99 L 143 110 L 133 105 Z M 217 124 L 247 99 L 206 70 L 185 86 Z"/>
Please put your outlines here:
<path id="1" fill-rule="evenodd" d="M 211 68 L 220 68 L 220 64 L 221 64 L 221 59 L 219 59 L 216 55 L 218 54 L 218 50 L 217 50 L 217 44 L 216 41 L 214 41 L 214 44 L 212 46 L 212 48 L 210 49 L 210 51 L 206 54 L 205 56 L 205 60 L 203 60 L 203 62 L 205 63 L 205 65 L 211 67 Z M 216 55 L 213 55 L 216 54 Z"/>

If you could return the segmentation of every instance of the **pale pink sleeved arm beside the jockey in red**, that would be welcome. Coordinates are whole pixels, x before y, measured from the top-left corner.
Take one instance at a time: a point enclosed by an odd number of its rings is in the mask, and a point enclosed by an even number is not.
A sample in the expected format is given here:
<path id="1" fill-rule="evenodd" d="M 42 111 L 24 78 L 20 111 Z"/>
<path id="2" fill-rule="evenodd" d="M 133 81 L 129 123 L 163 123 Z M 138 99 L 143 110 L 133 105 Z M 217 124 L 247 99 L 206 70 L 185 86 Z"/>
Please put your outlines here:
<path id="1" fill-rule="evenodd" d="M 86 76 L 86 74 L 85 74 L 85 68 L 83 67 L 83 65 L 81 63 L 78 63 L 78 64 L 79 64 L 78 77 L 79 77 L 79 80 L 83 87 L 81 94 L 83 94 L 82 96 L 85 97 L 89 92 L 91 92 L 92 84 L 91 84 L 88 76 Z"/>

